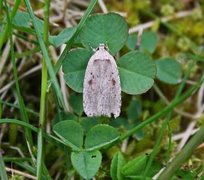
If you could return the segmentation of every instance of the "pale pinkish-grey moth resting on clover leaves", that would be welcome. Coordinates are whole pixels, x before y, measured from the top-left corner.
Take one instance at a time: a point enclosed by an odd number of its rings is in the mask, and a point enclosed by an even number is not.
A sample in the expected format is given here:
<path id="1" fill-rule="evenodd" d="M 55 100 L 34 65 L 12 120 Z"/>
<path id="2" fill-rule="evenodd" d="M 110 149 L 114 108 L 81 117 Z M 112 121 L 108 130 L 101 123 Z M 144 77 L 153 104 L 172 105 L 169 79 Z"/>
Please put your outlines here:
<path id="1" fill-rule="evenodd" d="M 87 116 L 120 115 L 121 86 L 118 68 L 105 44 L 91 56 L 83 83 L 83 107 Z"/>

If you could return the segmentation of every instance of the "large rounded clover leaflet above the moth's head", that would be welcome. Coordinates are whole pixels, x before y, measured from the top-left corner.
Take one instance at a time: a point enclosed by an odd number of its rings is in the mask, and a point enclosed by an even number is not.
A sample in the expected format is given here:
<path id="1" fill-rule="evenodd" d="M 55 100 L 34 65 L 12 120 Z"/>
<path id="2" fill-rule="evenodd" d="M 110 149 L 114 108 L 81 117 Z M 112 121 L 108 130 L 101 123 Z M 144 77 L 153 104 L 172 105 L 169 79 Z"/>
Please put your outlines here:
<path id="1" fill-rule="evenodd" d="M 125 45 L 127 37 L 127 23 L 115 13 L 90 16 L 78 36 L 85 47 L 97 48 L 104 43 L 113 55 Z"/>

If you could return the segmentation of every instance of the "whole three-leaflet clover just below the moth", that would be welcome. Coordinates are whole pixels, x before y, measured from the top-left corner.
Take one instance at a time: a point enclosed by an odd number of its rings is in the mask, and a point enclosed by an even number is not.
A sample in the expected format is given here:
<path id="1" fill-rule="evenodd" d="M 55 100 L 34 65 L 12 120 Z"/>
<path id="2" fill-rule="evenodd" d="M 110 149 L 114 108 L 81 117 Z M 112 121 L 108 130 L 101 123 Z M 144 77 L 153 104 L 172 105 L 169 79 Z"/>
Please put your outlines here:
<path id="1" fill-rule="evenodd" d="M 55 124 L 53 131 L 67 146 L 77 151 L 71 154 L 72 165 L 85 179 L 93 177 L 100 167 L 102 156 L 96 149 L 119 139 L 119 133 L 115 128 L 102 124 L 93 126 L 84 136 L 82 126 L 73 120 Z M 83 144 L 85 150 L 83 150 Z"/>

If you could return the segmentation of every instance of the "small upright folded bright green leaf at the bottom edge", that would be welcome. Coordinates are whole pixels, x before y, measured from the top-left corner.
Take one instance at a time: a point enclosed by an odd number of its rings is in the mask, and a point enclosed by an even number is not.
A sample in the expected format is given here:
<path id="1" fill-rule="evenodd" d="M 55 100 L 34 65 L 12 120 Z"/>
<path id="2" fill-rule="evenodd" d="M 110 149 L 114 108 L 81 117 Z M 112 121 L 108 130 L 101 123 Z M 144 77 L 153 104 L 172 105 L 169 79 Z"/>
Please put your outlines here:
<path id="1" fill-rule="evenodd" d="M 125 159 L 124 159 L 122 153 L 117 152 L 113 156 L 113 159 L 111 161 L 110 174 L 111 174 L 111 178 L 113 180 L 123 180 L 123 179 L 125 179 L 125 177 L 121 173 L 121 169 L 122 169 L 124 164 L 125 164 Z"/>

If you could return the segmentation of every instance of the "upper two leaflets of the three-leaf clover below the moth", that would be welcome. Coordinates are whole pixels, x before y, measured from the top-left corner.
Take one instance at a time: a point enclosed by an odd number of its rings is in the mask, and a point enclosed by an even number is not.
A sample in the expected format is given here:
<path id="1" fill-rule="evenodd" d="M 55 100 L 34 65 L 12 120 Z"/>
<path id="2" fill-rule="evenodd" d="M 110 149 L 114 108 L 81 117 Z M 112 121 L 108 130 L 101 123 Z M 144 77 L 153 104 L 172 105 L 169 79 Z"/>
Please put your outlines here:
<path id="1" fill-rule="evenodd" d="M 93 151 L 119 139 L 118 131 L 109 125 L 95 125 L 84 134 L 83 127 L 74 120 L 64 120 L 56 123 L 53 131 L 67 146 L 75 151 L 80 151 L 82 148 Z"/>

